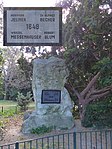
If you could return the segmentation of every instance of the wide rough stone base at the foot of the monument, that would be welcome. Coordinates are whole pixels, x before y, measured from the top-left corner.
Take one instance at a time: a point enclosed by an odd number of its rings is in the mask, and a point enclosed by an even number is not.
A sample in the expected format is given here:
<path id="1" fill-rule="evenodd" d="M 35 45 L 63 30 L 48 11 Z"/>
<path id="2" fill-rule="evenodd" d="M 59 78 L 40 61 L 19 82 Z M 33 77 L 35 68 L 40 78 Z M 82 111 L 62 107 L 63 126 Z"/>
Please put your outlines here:
<path id="1" fill-rule="evenodd" d="M 55 130 L 70 129 L 74 126 L 72 116 L 63 116 L 60 114 L 38 115 L 33 112 L 22 125 L 23 133 L 31 133 L 32 129 L 41 127 L 52 127 Z"/>

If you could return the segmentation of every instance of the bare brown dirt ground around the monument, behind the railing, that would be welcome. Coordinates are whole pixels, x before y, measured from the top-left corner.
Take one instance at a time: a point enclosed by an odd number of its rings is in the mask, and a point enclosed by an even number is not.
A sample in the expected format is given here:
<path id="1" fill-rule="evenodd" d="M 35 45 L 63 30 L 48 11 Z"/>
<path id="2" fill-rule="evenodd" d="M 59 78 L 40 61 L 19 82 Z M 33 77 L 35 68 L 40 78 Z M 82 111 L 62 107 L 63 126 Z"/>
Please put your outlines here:
<path id="1" fill-rule="evenodd" d="M 21 132 L 21 126 L 23 123 L 23 116 L 14 116 L 7 120 L 7 124 L 5 127 L 5 135 L 2 141 L 0 141 L 0 145 L 13 143 L 16 141 L 22 141 L 27 139 L 34 139 L 40 137 L 34 134 L 23 134 Z M 73 130 L 72 128 L 71 130 Z M 86 130 L 85 128 L 81 127 L 80 120 L 75 121 L 75 129 L 76 131 Z M 59 132 L 51 132 L 51 134 L 56 134 Z M 49 135 L 49 134 L 46 134 Z"/>

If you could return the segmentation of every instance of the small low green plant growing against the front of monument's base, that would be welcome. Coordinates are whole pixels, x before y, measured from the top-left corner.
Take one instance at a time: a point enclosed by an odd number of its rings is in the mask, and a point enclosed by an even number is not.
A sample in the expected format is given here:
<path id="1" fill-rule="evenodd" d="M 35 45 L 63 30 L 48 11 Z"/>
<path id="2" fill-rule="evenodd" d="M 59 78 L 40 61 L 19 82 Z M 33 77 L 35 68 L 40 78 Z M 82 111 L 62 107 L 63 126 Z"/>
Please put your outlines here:
<path id="1" fill-rule="evenodd" d="M 31 133 L 40 135 L 40 134 L 44 134 L 44 133 L 49 133 L 52 130 L 53 130 L 53 127 L 52 126 L 51 127 L 47 127 L 45 125 L 42 125 L 40 127 L 33 128 L 31 130 Z"/>

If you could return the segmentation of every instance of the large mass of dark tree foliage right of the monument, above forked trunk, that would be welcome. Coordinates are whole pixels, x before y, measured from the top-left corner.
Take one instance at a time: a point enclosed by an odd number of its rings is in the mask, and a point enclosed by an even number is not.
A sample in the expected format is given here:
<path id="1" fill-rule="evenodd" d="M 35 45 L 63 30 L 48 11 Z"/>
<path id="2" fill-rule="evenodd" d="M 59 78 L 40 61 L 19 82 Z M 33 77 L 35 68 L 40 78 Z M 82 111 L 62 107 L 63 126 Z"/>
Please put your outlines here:
<path id="1" fill-rule="evenodd" d="M 70 75 L 66 88 L 69 90 L 75 104 L 80 107 L 79 111 L 85 110 L 89 104 L 89 95 L 94 99 L 94 92 L 101 93 L 95 100 L 102 99 L 107 95 L 106 89 L 112 84 L 112 5 L 108 1 L 88 0 L 61 0 L 58 5 L 68 12 L 66 21 L 63 23 L 63 43 L 66 60 Z M 67 10 L 67 11 L 66 11 Z M 85 101 L 84 92 L 87 86 L 91 86 L 90 80 L 95 74 L 100 77 L 86 92 L 88 97 Z M 107 87 L 107 88 L 106 88 Z M 98 90 L 97 90 L 97 89 Z M 103 90 L 104 88 L 104 90 Z M 85 90 L 84 90 L 85 89 Z M 101 90 L 102 89 L 102 90 Z M 80 94 L 79 94 L 80 93 Z M 76 99 L 78 95 L 83 102 Z M 83 98 L 83 99 L 81 99 Z M 95 102 L 95 101 L 94 101 Z M 85 104 L 84 108 L 81 108 Z"/>

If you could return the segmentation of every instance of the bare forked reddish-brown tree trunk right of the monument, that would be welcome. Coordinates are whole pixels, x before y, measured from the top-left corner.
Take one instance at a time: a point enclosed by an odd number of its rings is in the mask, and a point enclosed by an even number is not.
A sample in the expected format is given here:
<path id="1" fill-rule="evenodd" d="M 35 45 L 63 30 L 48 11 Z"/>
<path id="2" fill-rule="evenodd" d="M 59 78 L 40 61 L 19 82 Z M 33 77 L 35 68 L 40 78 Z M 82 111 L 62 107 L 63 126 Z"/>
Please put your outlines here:
<path id="1" fill-rule="evenodd" d="M 96 99 L 102 99 L 102 97 L 112 92 L 112 85 L 104 87 L 103 89 L 100 89 L 100 90 L 95 89 L 95 83 L 99 75 L 100 75 L 100 72 L 98 72 L 92 78 L 92 80 L 88 83 L 86 88 L 81 93 L 79 93 L 75 88 L 71 86 L 74 94 L 78 98 L 78 107 L 79 107 L 79 114 L 80 114 L 81 121 L 84 120 L 86 107 L 90 102 L 95 101 Z"/>

